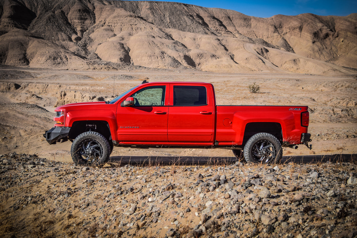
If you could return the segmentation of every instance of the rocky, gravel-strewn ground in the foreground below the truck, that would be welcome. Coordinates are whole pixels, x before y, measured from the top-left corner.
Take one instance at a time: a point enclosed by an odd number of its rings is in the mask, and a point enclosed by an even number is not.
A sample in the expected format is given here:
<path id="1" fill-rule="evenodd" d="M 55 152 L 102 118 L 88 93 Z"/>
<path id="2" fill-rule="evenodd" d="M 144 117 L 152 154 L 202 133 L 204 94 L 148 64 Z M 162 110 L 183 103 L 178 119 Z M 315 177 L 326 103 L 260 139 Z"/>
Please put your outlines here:
<path id="1" fill-rule="evenodd" d="M 357 237 L 356 162 L 105 164 L 0 156 L 0 237 Z"/>

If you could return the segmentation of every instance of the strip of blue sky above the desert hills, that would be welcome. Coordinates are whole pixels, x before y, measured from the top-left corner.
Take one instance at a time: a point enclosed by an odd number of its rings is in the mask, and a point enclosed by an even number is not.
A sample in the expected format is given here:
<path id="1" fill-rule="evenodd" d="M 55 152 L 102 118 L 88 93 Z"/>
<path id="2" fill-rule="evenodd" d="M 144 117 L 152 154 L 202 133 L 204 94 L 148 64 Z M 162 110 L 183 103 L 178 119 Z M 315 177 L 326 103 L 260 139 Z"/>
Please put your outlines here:
<path id="1" fill-rule="evenodd" d="M 357 0 L 181 0 L 171 2 L 231 9 L 248 16 L 257 17 L 271 17 L 278 14 L 299 15 L 302 13 L 322 16 L 347 16 L 351 13 L 357 13 Z"/>

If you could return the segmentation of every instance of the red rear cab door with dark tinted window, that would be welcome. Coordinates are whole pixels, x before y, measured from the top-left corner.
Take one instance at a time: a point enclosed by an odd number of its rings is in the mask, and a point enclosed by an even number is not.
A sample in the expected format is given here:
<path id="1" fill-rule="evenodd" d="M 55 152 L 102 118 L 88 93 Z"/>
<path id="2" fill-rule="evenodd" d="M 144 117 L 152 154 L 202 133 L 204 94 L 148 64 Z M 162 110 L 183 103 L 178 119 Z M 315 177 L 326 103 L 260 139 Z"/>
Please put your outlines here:
<path id="1" fill-rule="evenodd" d="M 169 142 L 211 142 L 214 116 L 212 89 L 209 85 L 170 85 Z"/>

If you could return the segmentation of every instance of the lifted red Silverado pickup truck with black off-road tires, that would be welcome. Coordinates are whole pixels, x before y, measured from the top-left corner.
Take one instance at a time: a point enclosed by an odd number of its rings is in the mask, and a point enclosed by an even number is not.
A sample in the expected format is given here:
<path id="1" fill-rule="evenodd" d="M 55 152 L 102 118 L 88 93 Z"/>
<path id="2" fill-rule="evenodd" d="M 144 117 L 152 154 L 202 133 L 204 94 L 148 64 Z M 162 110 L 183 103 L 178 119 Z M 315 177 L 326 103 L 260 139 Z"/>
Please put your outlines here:
<path id="1" fill-rule="evenodd" d="M 211 83 L 146 82 L 108 102 L 55 109 L 49 144 L 72 142 L 77 164 L 104 163 L 113 146 L 225 148 L 254 163 L 277 163 L 282 147 L 311 141 L 307 106 L 218 106 Z"/>

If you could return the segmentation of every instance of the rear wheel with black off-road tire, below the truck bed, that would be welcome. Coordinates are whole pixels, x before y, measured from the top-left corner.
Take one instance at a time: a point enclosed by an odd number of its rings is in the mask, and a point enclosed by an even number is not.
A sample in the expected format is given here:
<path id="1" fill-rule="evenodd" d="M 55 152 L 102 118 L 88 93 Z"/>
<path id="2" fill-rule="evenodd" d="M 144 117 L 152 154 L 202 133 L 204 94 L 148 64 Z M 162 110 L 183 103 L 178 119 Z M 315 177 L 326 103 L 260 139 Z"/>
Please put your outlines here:
<path id="1" fill-rule="evenodd" d="M 283 156 L 280 141 L 268 133 L 257 133 L 244 146 L 244 158 L 253 163 L 280 163 Z"/>

